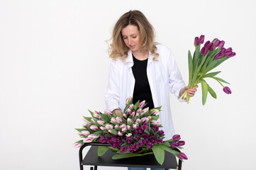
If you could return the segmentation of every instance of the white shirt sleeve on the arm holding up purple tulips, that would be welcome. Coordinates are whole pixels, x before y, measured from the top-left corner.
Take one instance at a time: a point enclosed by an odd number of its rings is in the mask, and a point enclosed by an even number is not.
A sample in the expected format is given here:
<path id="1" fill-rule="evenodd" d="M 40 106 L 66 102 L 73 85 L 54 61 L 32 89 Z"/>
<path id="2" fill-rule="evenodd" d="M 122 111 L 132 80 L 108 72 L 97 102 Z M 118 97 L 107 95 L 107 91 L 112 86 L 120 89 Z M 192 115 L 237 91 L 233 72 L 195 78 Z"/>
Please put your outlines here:
<path id="1" fill-rule="evenodd" d="M 169 91 L 179 98 L 179 91 L 186 86 L 182 79 L 182 74 L 179 72 L 177 63 L 174 60 L 172 52 L 167 51 L 167 63 L 169 72 Z M 183 100 L 182 100 L 183 101 Z"/>

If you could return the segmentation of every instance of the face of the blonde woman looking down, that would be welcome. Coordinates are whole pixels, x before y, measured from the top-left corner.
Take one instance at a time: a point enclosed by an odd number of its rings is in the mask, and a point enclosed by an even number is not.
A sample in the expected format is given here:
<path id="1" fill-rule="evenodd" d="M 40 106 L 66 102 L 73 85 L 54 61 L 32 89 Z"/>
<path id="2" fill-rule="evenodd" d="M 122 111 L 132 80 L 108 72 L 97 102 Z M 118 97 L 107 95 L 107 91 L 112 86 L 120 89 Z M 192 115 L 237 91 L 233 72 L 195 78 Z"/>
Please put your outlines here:
<path id="1" fill-rule="evenodd" d="M 140 32 L 137 26 L 128 25 L 121 30 L 123 42 L 133 52 L 140 51 Z"/>

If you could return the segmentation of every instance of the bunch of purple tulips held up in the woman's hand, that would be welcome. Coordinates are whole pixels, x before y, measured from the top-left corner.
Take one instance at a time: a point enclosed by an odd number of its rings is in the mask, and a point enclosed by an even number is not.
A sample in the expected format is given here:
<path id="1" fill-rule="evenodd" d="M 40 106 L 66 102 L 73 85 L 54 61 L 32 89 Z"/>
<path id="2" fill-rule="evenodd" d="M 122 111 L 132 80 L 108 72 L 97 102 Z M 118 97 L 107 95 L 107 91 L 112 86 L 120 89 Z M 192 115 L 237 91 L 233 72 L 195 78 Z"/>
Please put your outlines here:
<path id="1" fill-rule="evenodd" d="M 194 40 L 194 45 L 196 50 L 192 57 L 191 52 L 189 51 L 189 89 L 193 88 L 197 84 L 201 83 L 202 87 L 202 103 L 206 103 L 207 94 L 211 94 L 213 98 L 217 98 L 215 91 L 211 89 L 204 78 L 212 78 L 218 81 L 229 84 L 227 81 L 216 77 L 219 72 L 210 72 L 212 69 L 216 68 L 222 62 L 228 60 L 230 57 L 235 56 L 231 47 L 227 49 L 224 47 L 225 42 L 223 40 L 218 40 L 215 38 L 212 42 L 206 41 L 204 47 L 201 47 L 201 44 L 204 43 L 204 35 L 201 35 L 200 38 L 196 37 Z M 208 73 L 210 72 L 210 73 Z M 223 86 L 223 84 L 221 84 Z M 231 94 L 231 90 L 228 86 L 223 86 L 223 91 L 226 94 Z M 190 96 L 187 96 L 187 91 L 179 98 L 187 98 L 187 103 L 189 103 Z"/>

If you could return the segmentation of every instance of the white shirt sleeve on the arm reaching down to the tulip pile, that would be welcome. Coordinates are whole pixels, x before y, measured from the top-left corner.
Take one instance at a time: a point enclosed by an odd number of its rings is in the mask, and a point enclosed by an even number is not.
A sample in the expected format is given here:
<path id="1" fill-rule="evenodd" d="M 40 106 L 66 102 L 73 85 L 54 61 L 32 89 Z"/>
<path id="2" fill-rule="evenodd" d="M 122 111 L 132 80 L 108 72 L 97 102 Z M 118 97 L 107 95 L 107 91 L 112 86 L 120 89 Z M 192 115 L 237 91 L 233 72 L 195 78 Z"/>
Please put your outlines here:
<path id="1" fill-rule="evenodd" d="M 119 72 L 117 61 L 112 61 L 109 77 L 108 77 L 108 90 L 105 95 L 106 109 L 113 111 L 116 108 L 119 108 Z"/>

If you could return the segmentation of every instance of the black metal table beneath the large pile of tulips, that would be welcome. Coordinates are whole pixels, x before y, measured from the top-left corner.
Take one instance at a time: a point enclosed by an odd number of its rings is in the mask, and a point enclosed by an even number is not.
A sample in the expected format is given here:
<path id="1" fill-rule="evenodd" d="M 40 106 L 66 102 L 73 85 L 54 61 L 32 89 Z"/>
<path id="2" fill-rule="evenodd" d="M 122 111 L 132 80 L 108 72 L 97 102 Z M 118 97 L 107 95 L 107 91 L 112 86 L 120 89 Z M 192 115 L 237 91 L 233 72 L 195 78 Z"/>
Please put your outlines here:
<path id="1" fill-rule="evenodd" d="M 84 147 L 91 146 L 86 156 L 82 157 L 82 150 Z M 165 152 L 165 162 L 160 165 L 155 159 L 154 154 L 148 154 L 143 157 L 131 157 L 126 159 L 112 159 L 113 152 L 110 149 L 101 157 L 98 157 L 97 150 L 99 146 L 111 146 L 101 143 L 87 143 L 82 145 L 79 149 L 79 165 L 80 170 L 84 170 L 84 165 L 91 165 L 91 170 L 96 170 L 97 166 L 123 166 L 123 167 L 141 167 L 141 168 L 161 168 L 161 169 L 182 169 L 182 161 L 179 160 L 177 164 L 176 157 Z"/>

